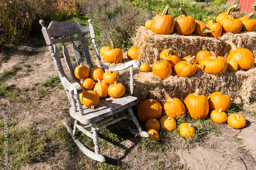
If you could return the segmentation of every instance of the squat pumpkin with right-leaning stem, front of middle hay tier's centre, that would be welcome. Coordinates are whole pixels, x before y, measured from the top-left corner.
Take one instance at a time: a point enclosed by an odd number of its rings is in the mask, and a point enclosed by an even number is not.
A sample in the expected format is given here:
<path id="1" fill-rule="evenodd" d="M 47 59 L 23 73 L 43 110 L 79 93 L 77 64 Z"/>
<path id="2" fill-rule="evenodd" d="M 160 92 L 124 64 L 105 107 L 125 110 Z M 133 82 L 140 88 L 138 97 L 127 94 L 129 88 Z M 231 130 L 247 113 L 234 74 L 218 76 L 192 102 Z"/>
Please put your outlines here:
<path id="1" fill-rule="evenodd" d="M 174 71 L 179 77 L 189 77 L 194 75 L 198 70 L 198 65 L 191 62 L 195 56 L 191 57 L 189 61 L 180 61 L 175 67 Z"/>

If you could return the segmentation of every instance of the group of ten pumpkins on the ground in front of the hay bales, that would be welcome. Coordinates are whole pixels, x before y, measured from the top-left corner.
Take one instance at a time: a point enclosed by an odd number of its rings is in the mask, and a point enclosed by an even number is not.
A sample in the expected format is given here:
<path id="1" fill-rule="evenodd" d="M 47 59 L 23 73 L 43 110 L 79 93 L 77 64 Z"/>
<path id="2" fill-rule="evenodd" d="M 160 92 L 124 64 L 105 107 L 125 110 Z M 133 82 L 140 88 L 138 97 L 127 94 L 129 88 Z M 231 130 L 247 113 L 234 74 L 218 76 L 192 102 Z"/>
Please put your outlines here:
<path id="1" fill-rule="evenodd" d="M 230 114 L 227 116 L 225 111 L 230 108 L 231 99 L 226 93 L 224 84 L 222 90 L 209 95 L 208 99 L 205 95 L 200 95 L 199 89 L 195 93 L 186 96 L 184 102 L 178 98 L 172 98 L 165 90 L 166 100 L 161 105 L 158 101 L 148 99 L 142 101 L 137 110 L 137 115 L 142 123 L 145 123 L 145 129 L 150 137 L 150 140 L 158 140 L 158 131 L 173 131 L 176 128 L 175 117 L 185 116 L 187 113 L 191 118 L 204 119 L 209 110 L 210 117 L 216 123 L 225 123 L 234 129 L 244 128 L 246 120 L 240 114 Z M 165 112 L 166 115 L 162 116 Z M 179 125 L 179 133 L 185 138 L 190 138 L 195 135 L 196 130 L 190 123 L 182 123 Z"/>

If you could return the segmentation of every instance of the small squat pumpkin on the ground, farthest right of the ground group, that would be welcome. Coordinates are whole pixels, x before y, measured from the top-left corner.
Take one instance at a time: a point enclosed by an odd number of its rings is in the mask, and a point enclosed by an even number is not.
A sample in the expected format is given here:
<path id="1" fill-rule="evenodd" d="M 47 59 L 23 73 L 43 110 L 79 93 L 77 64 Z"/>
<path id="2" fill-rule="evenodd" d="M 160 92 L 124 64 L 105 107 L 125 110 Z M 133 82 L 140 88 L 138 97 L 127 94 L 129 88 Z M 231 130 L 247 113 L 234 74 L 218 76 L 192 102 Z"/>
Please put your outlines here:
<path id="1" fill-rule="evenodd" d="M 234 129 L 242 129 L 246 125 L 246 119 L 241 114 L 230 114 L 227 117 L 227 123 Z"/>

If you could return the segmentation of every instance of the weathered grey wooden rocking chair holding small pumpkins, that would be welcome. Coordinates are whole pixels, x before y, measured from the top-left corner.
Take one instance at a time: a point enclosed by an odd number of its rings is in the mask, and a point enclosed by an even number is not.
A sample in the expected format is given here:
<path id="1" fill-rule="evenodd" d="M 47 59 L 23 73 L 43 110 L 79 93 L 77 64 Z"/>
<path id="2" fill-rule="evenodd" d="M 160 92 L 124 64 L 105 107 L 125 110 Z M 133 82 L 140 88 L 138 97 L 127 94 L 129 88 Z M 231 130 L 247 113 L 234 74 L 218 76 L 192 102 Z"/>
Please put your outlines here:
<path id="1" fill-rule="evenodd" d="M 68 99 L 71 104 L 70 115 L 75 119 L 73 129 L 69 123 L 65 123 L 65 126 L 68 132 L 70 133 L 71 137 L 73 138 L 74 142 L 77 144 L 78 148 L 84 154 L 86 154 L 88 157 L 92 159 L 104 162 L 105 158 L 99 154 L 97 131 L 105 128 L 106 126 L 117 123 L 119 120 L 127 118 L 132 120 L 137 127 L 137 130 L 130 129 L 131 133 L 142 136 L 142 137 L 148 137 L 149 135 L 147 132 L 142 131 L 140 125 L 138 124 L 138 120 L 133 114 L 131 106 L 134 106 L 137 103 L 137 98 L 133 96 L 123 95 L 121 98 L 118 98 L 118 99 L 114 99 L 114 98 L 111 98 L 110 96 L 107 96 L 104 99 L 100 99 L 99 105 L 94 110 L 82 106 L 79 100 L 79 93 L 82 92 L 81 83 L 80 83 L 80 80 L 74 76 L 74 68 L 71 64 L 69 52 L 64 43 L 73 42 L 73 53 L 75 55 L 75 59 L 78 65 L 80 65 L 82 60 L 79 54 L 79 48 L 77 47 L 74 41 L 82 40 L 82 43 L 83 43 L 82 51 L 84 53 L 84 56 L 86 57 L 86 61 L 89 66 L 89 69 L 93 67 L 91 57 L 89 54 L 88 45 L 84 41 L 84 39 L 86 38 L 91 38 L 96 51 L 97 59 L 99 60 L 100 67 L 102 67 L 103 69 L 116 70 L 116 71 L 123 70 L 130 67 L 131 93 L 133 93 L 133 89 L 134 89 L 133 66 L 137 68 L 140 66 L 140 62 L 137 60 L 129 61 L 119 66 L 108 66 L 108 65 L 102 64 L 100 59 L 100 54 L 95 41 L 92 21 L 91 19 L 89 19 L 88 21 L 89 21 L 89 27 L 81 26 L 74 21 L 65 21 L 65 22 L 52 21 L 48 28 L 45 27 L 44 20 L 40 20 L 39 23 L 42 26 L 42 33 L 44 34 L 46 44 L 49 45 L 49 49 L 53 57 L 53 62 L 58 71 L 61 83 L 67 92 Z M 89 34 L 84 34 L 84 33 L 89 33 Z M 59 51 L 58 51 L 58 48 L 56 47 L 56 43 L 62 43 L 63 56 L 65 57 L 66 64 L 69 68 L 69 71 L 74 83 L 71 83 L 68 76 L 66 75 L 66 72 L 62 67 Z M 124 109 L 127 109 L 129 115 L 123 113 Z M 113 117 L 116 117 L 116 115 L 118 115 L 118 117 L 113 118 Z M 106 122 L 106 120 L 110 120 L 110 121 L 108 123 L 102 124 Z M 97 125 L 99 124 L 101 125 L 97 127 Z M 88 131 L 87 130 L 88 128 L 91 128 L 91 131 Z M 95 147 L 94 147 L 95 152 L 84 147 L 84 145 L 76 138 L 77 129 L 93 139 L 93 142 L 95 144 Z"/>

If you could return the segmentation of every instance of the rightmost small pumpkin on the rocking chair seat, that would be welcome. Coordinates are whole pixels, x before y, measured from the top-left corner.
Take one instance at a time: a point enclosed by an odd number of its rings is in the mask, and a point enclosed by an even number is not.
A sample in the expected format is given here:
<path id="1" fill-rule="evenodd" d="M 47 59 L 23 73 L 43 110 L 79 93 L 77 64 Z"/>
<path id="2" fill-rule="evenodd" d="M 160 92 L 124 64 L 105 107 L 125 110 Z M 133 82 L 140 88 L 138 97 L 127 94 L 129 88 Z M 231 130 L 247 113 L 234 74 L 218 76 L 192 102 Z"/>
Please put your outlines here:
<path id="1" fill-rule="evenodd" d="M 115 81 L 109 86 L 108 93 L 112 98 L 120 98 L 125 93 L 125 88 L 121 83 Z"/>

